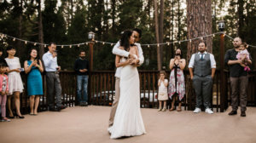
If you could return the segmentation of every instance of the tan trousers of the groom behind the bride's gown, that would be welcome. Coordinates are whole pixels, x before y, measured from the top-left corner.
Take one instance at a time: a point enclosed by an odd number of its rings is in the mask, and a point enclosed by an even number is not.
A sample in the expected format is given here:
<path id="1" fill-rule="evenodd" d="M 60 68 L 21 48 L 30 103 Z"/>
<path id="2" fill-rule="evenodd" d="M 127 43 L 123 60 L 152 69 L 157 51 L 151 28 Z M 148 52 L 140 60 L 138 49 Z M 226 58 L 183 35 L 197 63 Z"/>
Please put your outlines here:
<path id="1" fill-rule="evenodd" d="M 114 95 L 114 100 L 113 100 L 113 104 L 112 104 L 112 107 L 111 107 L 108 127 L 113 126 L 114 115 L 115 115 L 117 106 L 119 104 L 119 96 L 120 96 L 120 85 L 119 85 L 119 83 L 120 83 L 120 78 L 115 77 L 115 95 Z"/>

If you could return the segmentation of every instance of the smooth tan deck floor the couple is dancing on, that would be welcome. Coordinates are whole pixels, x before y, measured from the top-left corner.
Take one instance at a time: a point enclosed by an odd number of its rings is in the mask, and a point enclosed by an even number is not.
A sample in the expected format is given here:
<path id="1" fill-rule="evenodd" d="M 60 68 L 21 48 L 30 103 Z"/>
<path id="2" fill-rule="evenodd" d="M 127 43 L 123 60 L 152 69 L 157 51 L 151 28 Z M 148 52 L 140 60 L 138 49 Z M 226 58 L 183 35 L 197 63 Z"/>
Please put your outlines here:
<path id="1" fill-rule="evenodd" d="M 0 123 L 1 143 L 255 143 L 256 108 L 247 117 L 227 112 L 209 115 L 157 112 L 142 109 L 147 134 L 119 140 L 109 139 L 108 106 L 68 107 L 62 112 L 40 112 Z"/>

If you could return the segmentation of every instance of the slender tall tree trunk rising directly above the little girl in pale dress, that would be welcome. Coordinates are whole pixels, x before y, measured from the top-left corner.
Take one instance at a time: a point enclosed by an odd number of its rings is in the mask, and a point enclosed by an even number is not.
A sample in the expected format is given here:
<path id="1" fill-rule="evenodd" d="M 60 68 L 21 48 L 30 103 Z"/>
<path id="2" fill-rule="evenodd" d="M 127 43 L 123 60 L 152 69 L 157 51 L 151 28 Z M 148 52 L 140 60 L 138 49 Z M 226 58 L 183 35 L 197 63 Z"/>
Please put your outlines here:
<path id="1" fill-rule="evenodd" d="M 160 43 L 159 39 L 159 26 L 158 26 L 158 3 L 157 0 L 154 0 L 154 22 L 155 22 L 155 37 L 156 43 Z M 157 69 L 161 70 L 161 60 L 160 60 L 160 46 L 157 45 Z"/>

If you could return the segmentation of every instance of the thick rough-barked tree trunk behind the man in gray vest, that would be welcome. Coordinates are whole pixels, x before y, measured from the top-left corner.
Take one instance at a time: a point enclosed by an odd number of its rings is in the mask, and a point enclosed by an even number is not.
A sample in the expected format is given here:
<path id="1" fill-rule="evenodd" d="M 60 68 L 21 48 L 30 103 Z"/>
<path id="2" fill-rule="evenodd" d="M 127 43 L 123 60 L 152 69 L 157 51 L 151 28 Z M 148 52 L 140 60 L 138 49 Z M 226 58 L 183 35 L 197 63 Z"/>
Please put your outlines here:
<path id="1" fill-rule="evenodd" d="M 212 34 L 212 1 L 187 0 L 188 38 L 202 37 Z M 212 37 L 204 37 L 207 52 L 212 53 Z M 187 60 L 197 52 L 201 39 L 188 43 Z"/>

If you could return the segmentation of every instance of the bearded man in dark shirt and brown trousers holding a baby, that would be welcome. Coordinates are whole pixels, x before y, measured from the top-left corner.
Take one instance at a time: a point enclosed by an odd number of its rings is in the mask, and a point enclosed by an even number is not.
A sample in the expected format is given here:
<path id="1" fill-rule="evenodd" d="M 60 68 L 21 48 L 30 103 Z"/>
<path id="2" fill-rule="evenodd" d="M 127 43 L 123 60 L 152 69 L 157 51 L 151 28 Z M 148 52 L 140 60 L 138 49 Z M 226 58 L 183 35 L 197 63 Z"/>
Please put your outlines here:
<path id="1" fill-rule="evenodd" d="M 239 47 L 241 45 L 241 38 L 236 37 L 233 41 L 234 49 L 229 49 L 224 57 L 224 61 L 230 66 L 230 85 L 231 85 L 231 106 L 232 111 L 229 115 L 236 115 L 238 109 L 238 98 L 240 97 L 241 117 L 246 117 L 247 110 L 247 85 L 248 77 L 244 67 L 240 64 L 245 60 L 247 65 L 252 64 L 252 60 L 246 60 L 245 57 L 241 60 L 236 59 Z M 251 59 L 251 57 L 250 57 Z"/>

